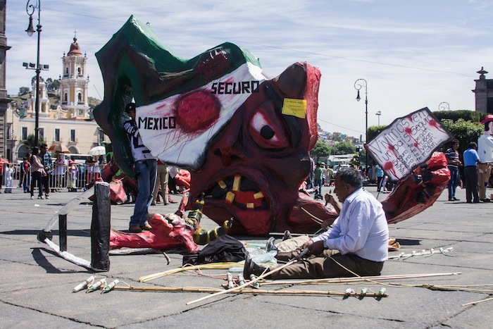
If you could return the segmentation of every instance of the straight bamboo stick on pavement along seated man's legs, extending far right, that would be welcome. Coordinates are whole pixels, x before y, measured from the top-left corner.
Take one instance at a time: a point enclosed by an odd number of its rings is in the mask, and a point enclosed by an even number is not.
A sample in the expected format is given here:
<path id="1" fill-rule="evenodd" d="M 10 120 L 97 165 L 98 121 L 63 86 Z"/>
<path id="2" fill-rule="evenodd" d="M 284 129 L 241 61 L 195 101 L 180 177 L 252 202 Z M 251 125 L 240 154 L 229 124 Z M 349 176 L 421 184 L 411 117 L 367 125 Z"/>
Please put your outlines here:
<path id="1" fill-rule="evenodd" d="M 351 278 L 326 278 L 326 279 L 312 279 L 312 280 L 274 280 L 260 283 L 260 285 L 325 285 L 330 283 L 357 283 L 365 282 L 368 280 L 397 280 L 408 278 L 430 278 L 434 276 L 446 276 L 446 275 L 459 275 L 461 272 L 456 273 L 430 273 L 430 274 L 402 274 L 402 275 L 376 275 L 376 276 L 362 276 Z"/>

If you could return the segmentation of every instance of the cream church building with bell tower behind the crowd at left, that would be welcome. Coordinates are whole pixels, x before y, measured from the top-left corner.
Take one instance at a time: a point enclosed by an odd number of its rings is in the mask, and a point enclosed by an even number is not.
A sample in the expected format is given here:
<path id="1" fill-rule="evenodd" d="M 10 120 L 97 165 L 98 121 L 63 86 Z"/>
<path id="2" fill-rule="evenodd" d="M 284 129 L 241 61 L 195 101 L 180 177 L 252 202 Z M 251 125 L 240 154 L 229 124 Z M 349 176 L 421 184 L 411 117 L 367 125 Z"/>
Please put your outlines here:
<path id="1" fill-rule="evenodd" d="M 63 75 L 60 81 L 60 104 L 50 108 L 44 80 L 39 82 L 39 137 L 50 147 L 63 144 L 73 154 L 87 154 L 92 147 L 109 142 L 103 130 L 90 117 L 87 102 L 87 56 L 82 56 L 77 39 L 70 44 L 67 56 L 63 54 Z M 27 137 L 35 133 L 35 89 L 26 104 L 14 108 L 8 104 L 6 110 L 6 151 L 4 158 L 9 161 L 23 159 L 30 148 Z"/>

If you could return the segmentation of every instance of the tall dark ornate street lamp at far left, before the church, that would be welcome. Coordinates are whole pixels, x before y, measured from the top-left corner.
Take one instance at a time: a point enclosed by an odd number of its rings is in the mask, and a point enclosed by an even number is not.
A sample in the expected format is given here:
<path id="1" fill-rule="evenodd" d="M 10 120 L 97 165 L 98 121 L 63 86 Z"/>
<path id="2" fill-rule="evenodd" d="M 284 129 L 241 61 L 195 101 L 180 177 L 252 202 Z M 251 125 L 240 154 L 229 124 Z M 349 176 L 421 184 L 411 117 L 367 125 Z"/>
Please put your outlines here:
<path id="1" fill-rule="evenodd" d="M 27 0 L 27 4 L 25 5 L 25 11 L 27 15 L 29 15 L 29 26 L 27 26 L 27 35 L 30 37 L 34 34 L 34 32 L 37 32 L 37 60 L 36 60 L 36 67 L 33 63 L 23 63 L 23 66 L 26 69 L 30 70 L 36 70 L 36 104 L 35 104 L 35 146 L 38 146 L 39 142 L 39 73 L 41 70 L 48 70 L 49 66 L 44 65 L 40 66 L 39 65 L 39 37 L 41 36 L 41 0 L 36 0 L 33 1 L 35 4 L 30 4 L 31 0 Z M 36 30 L 32 27 L 32 14 L 35 13 L 35 10 L 37 9 L 37 25 L 36 25 Z"/>

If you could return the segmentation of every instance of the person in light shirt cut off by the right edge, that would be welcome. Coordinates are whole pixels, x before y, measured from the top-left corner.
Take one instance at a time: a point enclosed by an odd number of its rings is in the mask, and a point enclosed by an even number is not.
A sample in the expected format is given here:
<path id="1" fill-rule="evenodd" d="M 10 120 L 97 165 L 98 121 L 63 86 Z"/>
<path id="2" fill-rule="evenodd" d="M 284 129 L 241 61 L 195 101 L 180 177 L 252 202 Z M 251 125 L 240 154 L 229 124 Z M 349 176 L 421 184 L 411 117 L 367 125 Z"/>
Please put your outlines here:
<path id="1" fill-rule="evenodd" d="M 478 182 L 480 186 L 480 200 L 489 202 L 486 197 L 486 187 L 488 186 L 489 175 L 492 173 L 493 163 L 493 116 L 488 114 L 481 123 L 485 124 L 485 133 L 478 139 Z"/>

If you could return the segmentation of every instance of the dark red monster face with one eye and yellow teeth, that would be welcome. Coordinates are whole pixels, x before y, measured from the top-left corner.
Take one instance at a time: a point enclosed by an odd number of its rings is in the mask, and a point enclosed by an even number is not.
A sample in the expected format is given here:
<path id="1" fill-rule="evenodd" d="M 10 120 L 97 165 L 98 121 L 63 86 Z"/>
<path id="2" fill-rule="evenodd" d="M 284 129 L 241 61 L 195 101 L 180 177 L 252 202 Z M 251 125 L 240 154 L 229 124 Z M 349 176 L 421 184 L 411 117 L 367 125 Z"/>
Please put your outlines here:
<path id="1" fill-rule="evenodd" d="M 192 173 L 191 204 L 204 192 L 204 213 L 217 223 L 234 217 L 232 233 L 265 235 L 287 221 L 310 170 L 319 80 L 316 68 L 298 63 L 263 82 L 211 140 Z M 306 99 L 306 118 L 282 114 L 285 98 Z"/>

